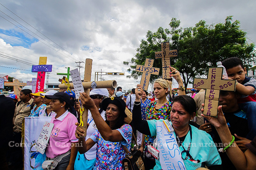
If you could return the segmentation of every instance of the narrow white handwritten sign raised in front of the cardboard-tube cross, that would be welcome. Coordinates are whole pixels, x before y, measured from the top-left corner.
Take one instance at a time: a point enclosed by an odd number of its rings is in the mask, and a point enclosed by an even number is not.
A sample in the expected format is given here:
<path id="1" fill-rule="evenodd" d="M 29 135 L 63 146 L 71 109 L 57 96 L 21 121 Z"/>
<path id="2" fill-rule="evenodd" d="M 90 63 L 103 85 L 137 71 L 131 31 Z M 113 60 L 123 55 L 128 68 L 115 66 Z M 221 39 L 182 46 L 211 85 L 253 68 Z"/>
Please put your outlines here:
<path id="1" fill-rule="evenodd" d="M 80 96 L 79 93 L 85 92 L 85 89 L 82 86 L 82 81 L 81 81 L 81 78 L 80 78 L 80 74 L 78 72 L 78 68 L 76 68 L 75 70 L 71 70 L 70 75 L 71 75 L 71 78 L 72 78 L 72 81 L 73 81 L 75 94 L 76 94 L 76 99 L 78 99 L 79 96 Z"/>

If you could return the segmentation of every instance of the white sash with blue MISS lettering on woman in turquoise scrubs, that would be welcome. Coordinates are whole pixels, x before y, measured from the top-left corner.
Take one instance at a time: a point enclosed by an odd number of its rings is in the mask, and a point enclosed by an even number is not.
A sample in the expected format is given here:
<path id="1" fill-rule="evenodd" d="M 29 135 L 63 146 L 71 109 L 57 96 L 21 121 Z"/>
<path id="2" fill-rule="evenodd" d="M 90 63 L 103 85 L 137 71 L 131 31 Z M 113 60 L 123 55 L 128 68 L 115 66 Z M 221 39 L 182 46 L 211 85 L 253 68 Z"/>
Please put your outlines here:
<path id="1" fill-rule="evenodd" d="M 174 131 L 167 132 L 161 121 L 156 121 L 157 149 L 163 170 L 186 170 Z"/>

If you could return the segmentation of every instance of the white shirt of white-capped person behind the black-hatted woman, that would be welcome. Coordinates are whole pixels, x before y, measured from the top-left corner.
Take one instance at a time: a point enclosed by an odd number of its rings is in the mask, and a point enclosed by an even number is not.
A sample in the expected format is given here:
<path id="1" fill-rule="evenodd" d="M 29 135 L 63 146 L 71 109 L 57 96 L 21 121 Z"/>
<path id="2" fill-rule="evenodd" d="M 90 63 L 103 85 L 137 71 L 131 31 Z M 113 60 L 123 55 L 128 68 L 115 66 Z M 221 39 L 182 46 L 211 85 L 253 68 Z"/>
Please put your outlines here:
<path id="1" fill-rule="evenodd" d="M 102 113 L 100 115 L 104 120 L 106 120 L 106 111 L 102 110 Z M 93 132 L 97 129 L 90 110 L 88 110 L 88 120 L 87 120 L 87 122 L 90 125 L 88 126 L 88 129 L 87 129 L 85 141 L 87 139 L 89 139 L 90 136 L 93 134 Z M 95 159 L 96 158 L 96 149 L 97 149 L 97 144 L 94 144 L 93 147 L 91 147 L 91 149 L 89 149 L 89 151 L 87 151 L 85 153 L 85 158 L 88 159 L 88 160 Z"/>

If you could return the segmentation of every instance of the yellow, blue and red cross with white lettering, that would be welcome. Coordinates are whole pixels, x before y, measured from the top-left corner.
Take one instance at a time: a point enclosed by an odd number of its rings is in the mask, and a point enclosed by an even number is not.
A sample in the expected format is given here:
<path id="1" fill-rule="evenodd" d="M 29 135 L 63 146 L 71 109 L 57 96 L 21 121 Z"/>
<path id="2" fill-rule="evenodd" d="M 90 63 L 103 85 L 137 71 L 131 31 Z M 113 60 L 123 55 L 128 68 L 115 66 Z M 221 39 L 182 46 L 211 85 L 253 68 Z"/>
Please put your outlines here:
<path id="1" fill-rule="evenodd" d="M 47 57 L 39 57 L 39 65 L 32 66 L 32 72 L 37 72 L 37 85 L 35 92 L 43 91 L 46 72 L 52 72 L 52 65 L 46 65 Z"/>

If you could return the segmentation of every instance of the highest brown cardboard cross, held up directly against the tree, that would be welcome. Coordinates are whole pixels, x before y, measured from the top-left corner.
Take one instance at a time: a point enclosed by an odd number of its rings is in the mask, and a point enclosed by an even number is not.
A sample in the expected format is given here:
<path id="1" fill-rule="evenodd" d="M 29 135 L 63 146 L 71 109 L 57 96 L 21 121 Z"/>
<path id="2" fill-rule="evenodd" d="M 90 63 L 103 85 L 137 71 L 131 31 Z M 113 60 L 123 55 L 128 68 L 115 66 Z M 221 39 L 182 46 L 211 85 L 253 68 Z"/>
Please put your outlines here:
<path id="1" fill-rule="evenodd" d="M 162 67 L 163 67 L 163 79 L 170 79 L 170 70 L 169 66 L 170 64 L 170 58 L 171 57 L 177 57 L 178 52 L 177 50 L 170 50 L 170 44 L 169 42 L 161 43 L 161 51 L 155 52 L 155 57 L 162 58 Z"/>

